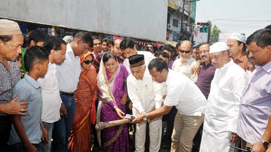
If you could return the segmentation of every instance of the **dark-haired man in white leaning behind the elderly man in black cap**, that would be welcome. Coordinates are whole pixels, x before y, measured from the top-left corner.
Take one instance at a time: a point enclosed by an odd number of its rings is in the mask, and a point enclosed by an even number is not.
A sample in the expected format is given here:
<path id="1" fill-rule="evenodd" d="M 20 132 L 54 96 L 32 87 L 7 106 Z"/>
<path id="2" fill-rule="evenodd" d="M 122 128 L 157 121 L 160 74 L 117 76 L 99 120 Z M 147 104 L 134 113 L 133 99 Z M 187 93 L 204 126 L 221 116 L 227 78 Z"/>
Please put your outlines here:
<path id="1" fill-rule="evenodd" d="M 143 54 L 145 58 L 145 65 L 148 66 L 150 61 L 155 58 L 155 56 L 151 52 L 147 51 L 136 51 L 134 49 L 135 43 L 130 38 L 125 38 L 120 43 L 120 48 L 122 50 L 123 56 L 125 57 L 125 60 L 123 61 L 123 64 L 125 65 L 127 71 L 129 74 L 131 74 L 131 68 L 129 64 L 129 57 L 136 54 Z M 147 72 L 149 70 L 146 70 Z"/>

